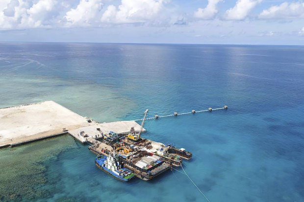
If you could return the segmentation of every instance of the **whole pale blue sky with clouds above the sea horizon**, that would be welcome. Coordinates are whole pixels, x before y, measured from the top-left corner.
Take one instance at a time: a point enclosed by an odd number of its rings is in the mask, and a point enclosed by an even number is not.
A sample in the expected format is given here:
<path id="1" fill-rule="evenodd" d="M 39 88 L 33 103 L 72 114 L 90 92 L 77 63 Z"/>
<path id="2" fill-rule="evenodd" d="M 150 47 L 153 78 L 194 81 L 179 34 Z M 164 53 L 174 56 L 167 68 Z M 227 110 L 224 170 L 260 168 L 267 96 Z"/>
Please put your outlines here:
<path id="1" fill-rule="evenodd" d="M 304 45 L 304 1 L 0 0 L 0 41 Z"/>

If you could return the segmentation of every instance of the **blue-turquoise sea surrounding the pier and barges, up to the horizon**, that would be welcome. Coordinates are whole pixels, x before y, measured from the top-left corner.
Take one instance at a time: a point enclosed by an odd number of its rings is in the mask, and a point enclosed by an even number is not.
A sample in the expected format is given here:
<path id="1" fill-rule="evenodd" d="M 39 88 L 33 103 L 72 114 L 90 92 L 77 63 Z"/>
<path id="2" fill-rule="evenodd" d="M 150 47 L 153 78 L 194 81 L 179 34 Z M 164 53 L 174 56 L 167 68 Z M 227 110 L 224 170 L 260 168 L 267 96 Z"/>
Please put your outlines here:
<path id="1" fill-rule="evenodd" d="M 147 121 L 144 137 L 191 151 L 184 168 L 210 201 L 304 201 L 303 46 L 2 43 L 0 69 L 0 107 L 54 100 L 103 122 L 228 105 Z M 0 154 L 12 167 L 25 150 L 42 156 L 18 167 L 39 166 L 24 174 L 38 180 L 22 181 L 39 194 L 10 188 L 0 200 L 205 200 L 177 171 L 126 184 L 72 137 L 35 144 L 54 148 L 51 157 L 35 145 Z"/>

